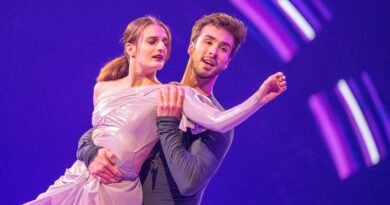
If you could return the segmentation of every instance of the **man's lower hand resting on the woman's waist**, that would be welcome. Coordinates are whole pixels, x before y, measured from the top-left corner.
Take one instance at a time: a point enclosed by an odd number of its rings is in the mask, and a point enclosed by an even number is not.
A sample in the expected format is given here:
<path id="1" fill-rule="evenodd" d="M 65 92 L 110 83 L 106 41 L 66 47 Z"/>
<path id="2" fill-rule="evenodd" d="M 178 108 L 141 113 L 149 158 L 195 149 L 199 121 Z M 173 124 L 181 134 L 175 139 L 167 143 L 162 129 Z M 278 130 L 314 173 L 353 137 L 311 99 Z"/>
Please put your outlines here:
<path id="1" fill-rule="evenodd" d="M 88 171 L 99 182 L 110 184 L 122 181 L 122 172 L 115 167 L 116 157 L 108 149 L 99 149 L 95 159 L 89 164 Z"/>

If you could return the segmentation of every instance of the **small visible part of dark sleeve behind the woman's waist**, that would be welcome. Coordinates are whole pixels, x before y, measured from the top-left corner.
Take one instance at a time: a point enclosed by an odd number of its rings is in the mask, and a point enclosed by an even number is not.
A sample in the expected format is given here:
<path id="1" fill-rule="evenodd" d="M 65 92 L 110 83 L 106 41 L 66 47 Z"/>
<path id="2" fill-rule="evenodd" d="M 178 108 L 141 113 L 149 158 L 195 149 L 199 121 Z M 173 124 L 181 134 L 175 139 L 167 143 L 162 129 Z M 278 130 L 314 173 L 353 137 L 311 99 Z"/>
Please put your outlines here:
<path id="1" fill-rule="evenodd" d="M 93 143 L 92 131 L 91 128 L 81 136 L 77 147 L 77 159 L 83 161 L 87 167 L 95 159 L 99 149 L 102 148 Z"/>

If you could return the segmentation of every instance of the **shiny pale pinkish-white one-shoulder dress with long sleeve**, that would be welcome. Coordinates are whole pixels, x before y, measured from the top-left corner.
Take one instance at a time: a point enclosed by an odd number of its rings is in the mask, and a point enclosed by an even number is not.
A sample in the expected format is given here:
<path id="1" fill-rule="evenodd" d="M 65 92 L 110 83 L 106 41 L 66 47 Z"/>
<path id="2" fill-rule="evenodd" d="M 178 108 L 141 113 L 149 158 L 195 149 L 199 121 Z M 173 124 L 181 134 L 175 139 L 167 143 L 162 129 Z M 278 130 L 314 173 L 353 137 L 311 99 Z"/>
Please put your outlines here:
<path id="1" fill-rule="evenodd" d="M 93 141 L 110 149 L 123 172 L 120 183 L 102 184 L 77 160 L 48 190 L 27 204 L 142 204 L 138 177 L 142 164 L 158 141 L 156 127 L 157 94 L 166 85 L 106 91 L 93 111 Z M 194 89 L 184 87 L 185 100 L 181 129 L 205 128 L 226 132 L 253 114 L 260 105 L 255 96 L 226 111 L 212 107 L 210 100 Z"/>

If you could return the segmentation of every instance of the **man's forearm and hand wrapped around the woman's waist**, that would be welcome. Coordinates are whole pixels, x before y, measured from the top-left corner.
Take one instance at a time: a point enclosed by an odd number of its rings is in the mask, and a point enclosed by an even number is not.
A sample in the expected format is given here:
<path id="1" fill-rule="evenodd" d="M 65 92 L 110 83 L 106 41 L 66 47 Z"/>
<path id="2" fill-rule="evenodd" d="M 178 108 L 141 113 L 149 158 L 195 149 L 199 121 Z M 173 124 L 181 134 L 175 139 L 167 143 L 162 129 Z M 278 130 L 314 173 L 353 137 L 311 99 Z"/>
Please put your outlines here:
<path id="1" fill-rule="evenodd" d="M 88 171 L 104 184 L 120 182 L 122 172 L 116 168 L 116 157 L 110 150 L 96 146 L 92 140 L 93 129 L 85 132 L 78 144 L 77 158 L 85 163 Z"/>

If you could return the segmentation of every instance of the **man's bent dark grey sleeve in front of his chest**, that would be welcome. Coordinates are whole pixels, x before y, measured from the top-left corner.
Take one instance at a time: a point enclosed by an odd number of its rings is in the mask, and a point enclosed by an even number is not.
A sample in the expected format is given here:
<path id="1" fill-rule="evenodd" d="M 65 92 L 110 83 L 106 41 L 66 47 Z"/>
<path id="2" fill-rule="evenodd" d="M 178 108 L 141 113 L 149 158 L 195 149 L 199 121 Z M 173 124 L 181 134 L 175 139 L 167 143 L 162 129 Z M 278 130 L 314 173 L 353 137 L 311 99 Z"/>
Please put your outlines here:
<path id="1" fill-rule="evenodd" d="M 190 196 L 202 189 L 218 170 L 232 139 L 226 134 L 232 136 L 232 133 L 206 131 L 187 150 L 178 126 L 174 117 L 157 118 L 161 147 L 171 175 L 180 193 Z"/>

